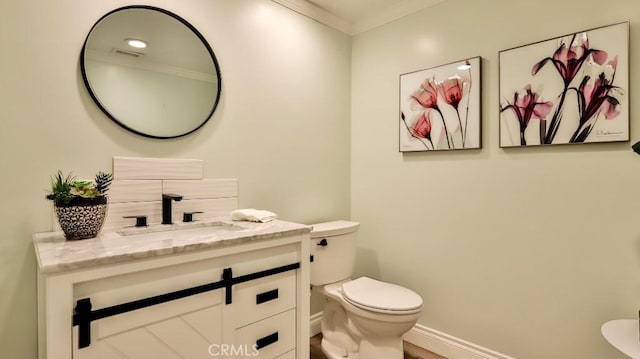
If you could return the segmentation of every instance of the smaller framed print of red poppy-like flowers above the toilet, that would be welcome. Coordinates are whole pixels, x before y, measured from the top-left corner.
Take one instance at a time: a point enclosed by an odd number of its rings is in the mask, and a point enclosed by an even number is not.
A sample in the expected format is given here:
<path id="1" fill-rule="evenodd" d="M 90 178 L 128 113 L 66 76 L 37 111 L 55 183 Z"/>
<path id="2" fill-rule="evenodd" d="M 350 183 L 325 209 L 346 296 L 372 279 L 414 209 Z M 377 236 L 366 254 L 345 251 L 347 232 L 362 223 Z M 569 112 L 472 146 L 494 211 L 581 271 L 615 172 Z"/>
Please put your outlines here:
<path id="1" fill-rule="evenodd" d="M 481 147 L 474 57 L 400 75 L 400 152 Z"/>

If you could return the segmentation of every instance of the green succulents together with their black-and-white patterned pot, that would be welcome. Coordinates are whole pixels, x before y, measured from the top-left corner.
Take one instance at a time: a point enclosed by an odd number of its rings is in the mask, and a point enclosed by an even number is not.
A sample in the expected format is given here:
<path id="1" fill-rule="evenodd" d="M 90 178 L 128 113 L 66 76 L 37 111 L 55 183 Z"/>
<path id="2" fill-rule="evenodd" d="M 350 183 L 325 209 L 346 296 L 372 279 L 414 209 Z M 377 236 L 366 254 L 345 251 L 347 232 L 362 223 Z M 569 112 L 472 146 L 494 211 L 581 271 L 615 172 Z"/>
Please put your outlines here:
<path id="1" fill-rule="evenodd" d="M 98 172 L 94 181 L 77 181 L 71 173 L 58 170 L 51 178 L 52 200 L 60 228 L 68 240 L 98 235 L 107 215 L 107 191 L 113 175 Z"/>

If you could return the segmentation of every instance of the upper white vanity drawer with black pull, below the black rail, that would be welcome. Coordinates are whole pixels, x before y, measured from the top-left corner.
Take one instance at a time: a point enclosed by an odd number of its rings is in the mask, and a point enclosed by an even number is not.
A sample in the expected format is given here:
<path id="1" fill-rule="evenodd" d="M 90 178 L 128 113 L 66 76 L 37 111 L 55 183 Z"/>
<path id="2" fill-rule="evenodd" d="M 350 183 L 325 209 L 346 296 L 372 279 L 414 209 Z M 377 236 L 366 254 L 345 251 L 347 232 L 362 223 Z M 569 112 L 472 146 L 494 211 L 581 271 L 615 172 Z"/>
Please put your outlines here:
<path id="1" fill-rule="evenodd" d="M 239 328 L 294 308 L 296 271 L 240 283 L 233 291 L 235 328 Z"/>

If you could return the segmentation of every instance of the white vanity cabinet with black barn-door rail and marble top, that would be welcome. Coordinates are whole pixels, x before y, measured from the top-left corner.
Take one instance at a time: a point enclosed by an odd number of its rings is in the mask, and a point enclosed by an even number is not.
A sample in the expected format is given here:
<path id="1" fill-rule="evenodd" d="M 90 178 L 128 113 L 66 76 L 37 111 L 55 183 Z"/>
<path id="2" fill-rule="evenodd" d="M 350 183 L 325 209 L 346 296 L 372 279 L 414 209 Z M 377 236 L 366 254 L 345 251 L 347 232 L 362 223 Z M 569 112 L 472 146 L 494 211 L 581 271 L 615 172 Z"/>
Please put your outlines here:
<path id="1" fill-rule="evenodd" d="M 39 358 L 307 359 L 309 230 L 277 222 L 127 255 L 36 234 Z"/>

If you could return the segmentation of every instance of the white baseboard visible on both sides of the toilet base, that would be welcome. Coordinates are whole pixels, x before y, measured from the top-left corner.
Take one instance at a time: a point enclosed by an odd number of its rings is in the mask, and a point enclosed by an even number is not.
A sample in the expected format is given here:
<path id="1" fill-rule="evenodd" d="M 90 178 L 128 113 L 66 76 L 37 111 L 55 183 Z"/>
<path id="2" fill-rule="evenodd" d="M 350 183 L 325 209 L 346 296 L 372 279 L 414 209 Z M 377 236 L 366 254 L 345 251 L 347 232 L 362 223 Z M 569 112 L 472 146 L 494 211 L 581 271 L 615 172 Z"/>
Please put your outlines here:
<path id="1" fill-rule="evenodd" d="M 311 316 L 309 332 L 312 337 L 320 334 L 321 321 L 322 312 Z M 403 339 L 447 359 L 515 359 L 421 324 L 416 324 Z"/>

